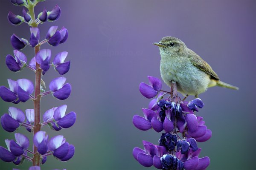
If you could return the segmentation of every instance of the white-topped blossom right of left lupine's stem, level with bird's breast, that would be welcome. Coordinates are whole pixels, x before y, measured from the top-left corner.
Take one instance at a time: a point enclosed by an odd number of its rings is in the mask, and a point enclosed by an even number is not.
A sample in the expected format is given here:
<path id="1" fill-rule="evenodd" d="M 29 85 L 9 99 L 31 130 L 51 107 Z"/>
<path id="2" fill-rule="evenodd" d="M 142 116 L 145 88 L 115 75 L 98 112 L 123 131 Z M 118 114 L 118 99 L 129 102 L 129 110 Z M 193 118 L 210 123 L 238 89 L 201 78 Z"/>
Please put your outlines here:
<path id="1" fill-rule="evenodd" d="M 55 70 L 58 71 L 60 75 L 66 74 L 70 69 L 70 61 L 64 62 L 67 57 L 67 51 L 58 53 L 52 62 Z"/>

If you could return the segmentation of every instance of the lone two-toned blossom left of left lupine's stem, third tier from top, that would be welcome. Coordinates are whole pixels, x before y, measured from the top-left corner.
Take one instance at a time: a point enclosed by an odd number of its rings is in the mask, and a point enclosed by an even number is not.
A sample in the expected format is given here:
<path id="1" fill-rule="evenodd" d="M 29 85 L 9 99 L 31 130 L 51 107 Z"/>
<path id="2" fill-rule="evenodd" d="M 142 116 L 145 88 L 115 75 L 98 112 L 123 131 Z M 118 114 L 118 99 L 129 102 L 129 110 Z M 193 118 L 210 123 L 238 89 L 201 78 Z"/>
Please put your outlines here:
<path id="1" fill-rule="evenodd" d="M 17 50 L 14 50 L 13 53 L 14 57 L 9 54 L 6 56 L 6 65 L 11 71 L 21 71 L 24 67 L 26 67 L 26 55 Z"/>

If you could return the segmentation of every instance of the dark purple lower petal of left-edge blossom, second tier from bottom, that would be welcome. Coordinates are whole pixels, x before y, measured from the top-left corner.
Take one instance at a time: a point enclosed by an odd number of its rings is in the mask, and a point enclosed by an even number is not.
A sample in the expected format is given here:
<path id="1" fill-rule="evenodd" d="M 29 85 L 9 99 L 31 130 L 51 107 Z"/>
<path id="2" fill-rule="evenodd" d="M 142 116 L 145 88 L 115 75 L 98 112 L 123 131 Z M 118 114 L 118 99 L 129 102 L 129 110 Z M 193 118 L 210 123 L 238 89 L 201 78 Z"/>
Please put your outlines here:
<path id="1" fill-rule="evenodd" d="M 1 125 L 7 132 L 14 132 L 19 126 L 19 122 L 13 119 L 9 114 L 1 116 Z"/>

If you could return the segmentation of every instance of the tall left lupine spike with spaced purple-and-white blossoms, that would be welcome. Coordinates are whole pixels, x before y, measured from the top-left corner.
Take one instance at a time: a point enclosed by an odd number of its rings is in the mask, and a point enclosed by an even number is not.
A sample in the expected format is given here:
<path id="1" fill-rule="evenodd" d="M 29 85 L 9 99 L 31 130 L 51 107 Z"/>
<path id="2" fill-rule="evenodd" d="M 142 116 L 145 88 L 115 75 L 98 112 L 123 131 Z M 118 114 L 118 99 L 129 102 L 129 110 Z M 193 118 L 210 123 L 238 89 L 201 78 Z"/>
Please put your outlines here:
<path id="1" fill-rule="evenodd" d="M 33 109 L 26 109 L 25 113 L 15 107 L 9 107 L 8 113 L 1 116 L 0 123 L 7 132 L 15 132 L 21 126 L 29 132 L 34 133 L 33 150 L 29 150 L 29 139 L 20 133 L 15 133 L 15 140 L 6 139 L 6 147 L 0 146 L 0 159 L 6 162 L 13 162 L 16 165 L 22 164 L 26 159 L 33 163 L 29 170 L 40 170 L 40 164 L 47 161 L 47 156 L 54 156 L 60 161 L 68 161 L 75 153 L 75 147 L 66 142 L 64 136 L 58 135 L 49 139 L 41 127 L 49 125 L 52 130 L 61 130 L 69 128 L 76 122 L 76 113 L 71 111 L 66 113 L 67 105 L 51 108 L 43 115 L 44 122 L 40 120 L 40 101 L 43 96 L 52 94 L 56 99 L 64 100 L 70 96 L 71 85 L 66 82 L 65 77 L 57 77 L 49 83 L 49 91 L 46 91 L 46 85 L 42 77 L 52 66 L 61 76 L 70 69 L 70 61 L 66 61 L 67 51 L 55 55 L 51 62 L 51 50 L 40 49 L 44 43 L 51 46 L 57 46 L 64 43 L 68 37 L 68 31 L 62 27 L 58 30 L 57 26 L 51 26 L 44 40 L 40 40 L 40 30 L 38 24 L 46 21 L 53 22 L 58 20 L 61 15 L 61 8 L 57 5 L 51 10 L 44 9 L 38 17 L 35 18 L 34 7 L 44 0 L 11 0 L 14 5 L 24 6 L 22 16 L 15 15 L 11 11 L 8 14 L 8 20 L 12 25 L 27 23 L 30 28 L 30 38 L 26 40 L 13 34 L 11 44 L 15 50 L 14 56 L 6 56 L 6 65 L 13 72 L 20 72 L 23 68 L 29 68 L 35 72 L 35 86 L 29 79 L 17 79 L 17 81 L 8 79 L 9 88 L 0 86 L 0 97 L 6 102 L 17 104 L 32 100 Z M 32 46 L 35 50 L 35 56 L 28 58 L 21 51 L 26 45 Z M 35 91 L 35 95 L 32 93 Z M 30 154 L 30 155 L 29 155 Z"/>

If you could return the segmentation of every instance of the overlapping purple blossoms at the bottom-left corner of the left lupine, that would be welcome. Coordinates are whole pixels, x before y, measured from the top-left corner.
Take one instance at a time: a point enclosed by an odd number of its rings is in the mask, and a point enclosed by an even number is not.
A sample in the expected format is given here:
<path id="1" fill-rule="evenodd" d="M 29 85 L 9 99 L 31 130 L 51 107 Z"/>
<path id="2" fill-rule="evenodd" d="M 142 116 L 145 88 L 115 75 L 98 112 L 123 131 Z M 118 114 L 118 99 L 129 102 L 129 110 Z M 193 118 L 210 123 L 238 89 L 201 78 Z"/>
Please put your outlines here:
<path id="1" fill-rule="evenodd" d="M 18 164 L 20 162 L 15 159 L 17 159 L 18 156 L 21 156 L 29 147 L 29 139 L 20 133 L 15 133 L 15 139 L 16 142 L 9 139 L 5 140 L 8 150 L 0 146 L 0 159 L 6 162 L 13 161 L 15 164 Z"/>

